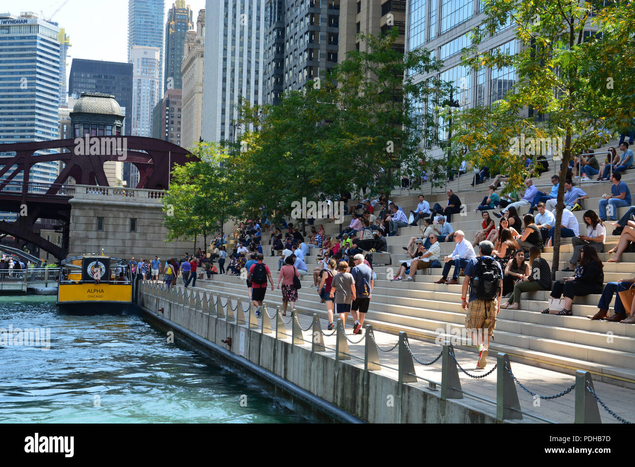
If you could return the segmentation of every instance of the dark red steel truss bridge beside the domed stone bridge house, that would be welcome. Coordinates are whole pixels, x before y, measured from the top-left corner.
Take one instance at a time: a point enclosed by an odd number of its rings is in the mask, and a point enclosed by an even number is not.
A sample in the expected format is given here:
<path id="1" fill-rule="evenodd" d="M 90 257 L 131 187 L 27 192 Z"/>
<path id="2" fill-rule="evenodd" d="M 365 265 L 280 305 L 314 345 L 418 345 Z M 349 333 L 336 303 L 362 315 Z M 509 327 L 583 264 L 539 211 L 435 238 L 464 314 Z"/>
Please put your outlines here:
<path id="1" fill-rule="evenodd" d="M 124 154 L 112 151 L 114 138 L 125 139 Z M 125 161 L 139 170 L 139 182 L 135 188 L 167 189 L 170 172 L 175 165 L 198 160 L 186 149 L 154 138 L 100 136 L 91 137 L 90 142 L 91 147 L 95 148 L 91 152 L 98 154 L 83 155 L 86 148 L 84 141 L 80 143 L 79 139 L 77 142 L 76 139 L 64 139 L 0 144 L 0 154 L 15 154 L 0 156 L 0 211 L 18 214 L 15 222 L 0 221 L 0 238 L 10 235 L 15 238 L 18 246 L 31 243 L 58 259 L 63 259 L 68 248 L 69 200 L 75 193 L 74 185 L 67 183 L 69 177 L 76 184 L 109 186 L 104 163 Z M 67 149 L 68 152 L 35 154 L 37 151 L 53 149 Z M 62 170 L 55 182 L 46 184 L 29 180 L 34 165 L 55 161 L 62 162 Z M 16 177 L 18 180 L 14 180 Z M 60 221 L 64 226 L 65 240 L 62 247 L 45 240 L 34 231 L 37 219 Z"/>

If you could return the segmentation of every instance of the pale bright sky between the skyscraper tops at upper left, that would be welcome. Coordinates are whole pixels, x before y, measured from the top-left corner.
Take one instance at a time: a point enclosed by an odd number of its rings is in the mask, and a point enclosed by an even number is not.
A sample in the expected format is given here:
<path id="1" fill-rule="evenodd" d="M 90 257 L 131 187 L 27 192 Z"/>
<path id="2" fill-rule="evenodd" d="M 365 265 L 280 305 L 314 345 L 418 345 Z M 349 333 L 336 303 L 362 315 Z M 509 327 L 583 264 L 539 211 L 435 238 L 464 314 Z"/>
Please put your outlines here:
<path id="1" fill-rule="evenodd" d="M 21 11 L 33 11 L 40 18 L 50 17 L 64 0 L 25 0 L 13 3 L 2 1 L 0 12 L 9 11 L 19 15 Z M 165 1 L 164 22 L 173 0 Z M 192 21 L 196 29 L 196 17 L 199 10 L 205 8 L 205 0 L 185 1 L 192 9 Z M 18 6 L 19 5 L 19 6 Z M 41 13 L 42 12 L 42 13 Z M 72 58 L 88 58 L 111 62 L 128 61 L 128 0 L 67 0 L 51 20 L 58 22 L 66 29 L 70 37 L 69 57 L 70 72 Z"/>

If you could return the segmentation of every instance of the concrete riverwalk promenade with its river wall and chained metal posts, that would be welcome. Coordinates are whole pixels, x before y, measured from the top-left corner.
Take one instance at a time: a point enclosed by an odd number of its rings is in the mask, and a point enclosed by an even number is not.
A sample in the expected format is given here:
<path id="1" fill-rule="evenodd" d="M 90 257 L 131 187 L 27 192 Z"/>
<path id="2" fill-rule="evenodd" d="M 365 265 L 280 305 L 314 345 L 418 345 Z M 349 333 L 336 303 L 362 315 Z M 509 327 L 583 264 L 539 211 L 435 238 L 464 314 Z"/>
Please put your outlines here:
<path id="1" fill-rule="evenodd" d="M 617 416 L 635 420 L 632 389 L 592 381 L 586 372 L 509 362 L 495 351 L 485 370 L 473 370 L 475 354 L 465 342 L 443 346 L 369 328 L 353 335 L 350 324 L 346 334 L 334 333 L 326 331 L 324 316 L 302 309 L 297 319 L 281 316 L 266 299 L 256 318 L 246 298 L 218 295 L 213 284 L 194 290 L 167 290 L 152 281 L 140 286 L 140 306 L 164 328 L 196 335 L 211 353 L 231 353 L 246 370 L 257 365 L 276 375 L 283 391 L 284 382 L 302 388 L 316 396 L 309 403 L 317 410 L 337 407 L 370 423 L 619 423 L 599 398 Z M 337 414 L 333 419 L 350 421 Z"/>

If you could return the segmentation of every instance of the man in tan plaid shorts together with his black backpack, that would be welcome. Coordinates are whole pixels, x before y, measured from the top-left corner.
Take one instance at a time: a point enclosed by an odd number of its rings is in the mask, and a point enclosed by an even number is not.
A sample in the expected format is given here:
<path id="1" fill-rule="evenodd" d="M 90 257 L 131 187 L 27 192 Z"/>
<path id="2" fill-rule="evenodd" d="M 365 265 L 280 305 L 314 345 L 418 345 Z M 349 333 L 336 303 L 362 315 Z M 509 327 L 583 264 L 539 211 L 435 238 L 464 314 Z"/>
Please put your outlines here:
<path id="1" fill-rule="evenodd" d="M 461 292 L 461 306 L 467 311 L 465 331 L 472 334 L 472 342 L 479 351 L 476 369 L 484 369 L 490 348 L 490 337 L 496 327 L 496 315 L 500 311 L 500 295 L 503 290 L 503 271 L 498 261 L 491 257 L 494 249 L 491 241 L 479 243 L 481 256 L 471 259 L 465 266 L 465 278 Z M 469 284 L 470 294 L 467 296 Z M 487 337 L 485 337 L 487 332 Z"/>

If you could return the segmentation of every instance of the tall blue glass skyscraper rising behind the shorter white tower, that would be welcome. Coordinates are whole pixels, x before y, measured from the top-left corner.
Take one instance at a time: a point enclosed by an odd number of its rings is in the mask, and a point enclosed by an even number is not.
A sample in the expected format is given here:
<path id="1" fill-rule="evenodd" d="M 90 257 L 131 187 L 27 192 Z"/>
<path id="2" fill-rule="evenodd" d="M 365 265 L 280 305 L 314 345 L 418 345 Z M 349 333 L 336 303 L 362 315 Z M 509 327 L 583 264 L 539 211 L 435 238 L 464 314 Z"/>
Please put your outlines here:
<path id="1" fill-rule="evenodd" d="M 163 88 L 164 13 L 164 0 L 128 0 L 128 62 L 132 62 L 131 50 L 135 45 L 158 48 L 159 88 Z"/>

